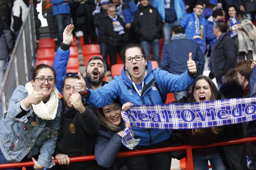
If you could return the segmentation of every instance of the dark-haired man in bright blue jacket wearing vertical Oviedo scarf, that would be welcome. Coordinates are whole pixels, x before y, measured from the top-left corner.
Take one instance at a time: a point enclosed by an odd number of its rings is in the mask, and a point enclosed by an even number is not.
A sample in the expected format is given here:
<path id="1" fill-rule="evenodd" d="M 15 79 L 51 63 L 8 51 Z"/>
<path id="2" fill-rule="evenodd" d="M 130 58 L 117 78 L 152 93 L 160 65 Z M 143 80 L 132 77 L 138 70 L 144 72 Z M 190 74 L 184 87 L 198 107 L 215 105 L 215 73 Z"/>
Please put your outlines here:
<path id="1" fill-rule="evenodd" d="M 189 40 L 196 41 L 203 53 L 206 51 L 206 19 L 203 15 L 204 4 L 197 2 L 192 14 L 186 14 L 179 24 L 185 28 Z"/>

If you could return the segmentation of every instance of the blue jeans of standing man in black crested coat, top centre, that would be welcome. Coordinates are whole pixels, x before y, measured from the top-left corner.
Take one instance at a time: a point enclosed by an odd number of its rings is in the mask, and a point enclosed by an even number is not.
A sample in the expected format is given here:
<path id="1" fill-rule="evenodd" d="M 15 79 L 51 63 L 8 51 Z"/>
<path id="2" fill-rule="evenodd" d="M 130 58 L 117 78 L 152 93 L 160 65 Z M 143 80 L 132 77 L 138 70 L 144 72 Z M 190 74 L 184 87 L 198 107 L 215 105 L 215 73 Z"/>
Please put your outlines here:
<path id="1" fill-rule="evenodd" d="M 158 66 L 160 66 L 160 59 L 159 59 L 159 52 L 160 52 L 160 45 L 159 39 L 151 40 L 151 41 L 141 41 L 141 46 L 144 48 L 147 60 L 150 60 L 150 45 L 153 51 L 153 58 L 157 61 Z"/>

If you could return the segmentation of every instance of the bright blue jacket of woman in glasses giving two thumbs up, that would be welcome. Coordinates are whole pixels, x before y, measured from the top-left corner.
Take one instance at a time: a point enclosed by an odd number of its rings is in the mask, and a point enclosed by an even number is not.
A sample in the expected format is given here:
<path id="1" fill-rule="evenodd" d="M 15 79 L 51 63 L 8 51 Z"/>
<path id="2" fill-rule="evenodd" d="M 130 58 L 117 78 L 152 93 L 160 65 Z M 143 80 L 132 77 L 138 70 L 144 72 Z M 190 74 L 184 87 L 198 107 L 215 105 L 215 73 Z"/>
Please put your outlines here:
<path id="1" fill-rule="evenodd" d="M 189 88 L 196 79 L 192 79 L 188 75 L 188 71 L 182 75 L 174 75 L 163 71 L 160 68 L 152 70 L 152 63 L 147 61 L 147 69 L 149 70 L 143 79 L 144 87 L 141 97 L 134 90 L 132 81 L 127 77 L 125 68 L 123 68 L 120 76 L 115 76 L 114 80 L 105 84 L 103 87 L 92 90 L 88 89 L 84 96 L 86 102 L 92 106 L 102 108 L 111 104 L 116 98 L 121 100 L 121 104 L 132 101 L 136 104 L 162 104 L 162 98 L 155 83 L 159 86 L 164 101 L 168 93 L 179 92 Z M 142 84 L 142 83 L 141 83 Z M 138 145 L 149 146 L 168 139 L 171 136 L 170 130 L 159 129 L 142 129 L 133 127 L 136 134 L 135 139 L 140 138 Z"/>

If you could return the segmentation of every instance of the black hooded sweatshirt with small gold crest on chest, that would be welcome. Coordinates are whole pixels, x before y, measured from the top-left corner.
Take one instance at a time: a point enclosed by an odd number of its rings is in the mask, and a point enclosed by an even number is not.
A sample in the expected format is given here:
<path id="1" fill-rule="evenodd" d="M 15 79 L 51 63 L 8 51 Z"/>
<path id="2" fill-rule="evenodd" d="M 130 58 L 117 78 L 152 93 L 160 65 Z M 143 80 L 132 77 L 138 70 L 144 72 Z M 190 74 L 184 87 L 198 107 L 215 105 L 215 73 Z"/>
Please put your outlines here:
<path id="1" fill-rule="evenodd" d="M 64 101 L 62 101 L 61 125 L 58 141 L 54 152 L 67 154 L 69 157 L 94 155 L 96 133 L 100 128 L 100 120 L 95 108 L 83 102 L 86 111 L 79 113 L 74 107 L 64 115 Z M 73 162 L 67 165 L 56 165 L 57 169 L 102 169 L 96 161 Z"/>

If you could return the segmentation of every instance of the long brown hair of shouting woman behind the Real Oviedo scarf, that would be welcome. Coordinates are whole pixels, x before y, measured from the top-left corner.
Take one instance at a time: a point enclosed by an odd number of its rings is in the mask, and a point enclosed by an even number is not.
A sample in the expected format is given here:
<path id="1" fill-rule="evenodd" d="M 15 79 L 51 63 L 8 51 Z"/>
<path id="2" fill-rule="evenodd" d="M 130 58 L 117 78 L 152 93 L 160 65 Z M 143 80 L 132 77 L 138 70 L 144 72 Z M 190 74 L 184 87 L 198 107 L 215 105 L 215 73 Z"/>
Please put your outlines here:
<path id="1" fill-rule="evenodd" d="M 196 79 L 196 82 L 198 80 L 202 80 L 204 79 L 205 81 L 207 81 L 207 83 L 209 84 L 209 87 L 211 89 L 211 99 L 210 100 L 216 100 L 217 99 L 217 96 L 218 96 L 218 90 L 217 90 L 217 87 L 215 86 L 215 84 L 211 81 L 211 79 L 207 76 L 204 76 L 204 75 L 199 75 Z M 194 98 L 194 90 L 195 90 L 195 85 L 196 85 L 196 82 L 192 85 L 192 89 L 191 89 L 191 94 L 188 98 L 188 101 L 190 103 L 194 103 L 196 102 L 195 98 Z M 220 132 L 220 129 L 218 127 L 210 127 L 211 128 L 211 131 L 212 133 L 215 133 L 215 134 L 218 134 Z M 198 128 L 198 129 L 192 129 L 192 133 L 194 135 L 196 134 L 202 134 L 206 131 L 206 129 L 208 128 Z"/>

